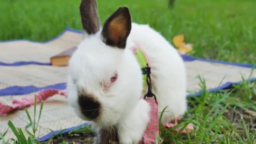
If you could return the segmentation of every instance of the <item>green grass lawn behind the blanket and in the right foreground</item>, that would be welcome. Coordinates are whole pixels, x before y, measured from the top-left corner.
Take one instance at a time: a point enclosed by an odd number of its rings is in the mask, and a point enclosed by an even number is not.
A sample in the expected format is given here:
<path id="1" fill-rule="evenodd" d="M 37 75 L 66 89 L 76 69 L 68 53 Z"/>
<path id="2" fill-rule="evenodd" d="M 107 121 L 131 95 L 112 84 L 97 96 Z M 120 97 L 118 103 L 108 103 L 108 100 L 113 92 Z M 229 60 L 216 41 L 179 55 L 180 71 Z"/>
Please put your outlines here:
<path id="1" fill-rule="evenodd" d="M 80 0 L 0 0 L 0 40 L 45 41 L 68 25 L 81 29 Z M 184 33 L 194 45 L 193 56 L 255 64 L 256 0 L 98 0 L 101 24 L 119 6 L 131 9 L 132 19 L 149 24 L 172 43 Z M 205 85 L 202 81 L 202 89 Z M 161 130 L 173 143 L 256 143 L 256 82 L 189 98 L 181 125 L 195 131 L 180 135 Z M 243 117 L 243 118 L 242 118 Z"/>

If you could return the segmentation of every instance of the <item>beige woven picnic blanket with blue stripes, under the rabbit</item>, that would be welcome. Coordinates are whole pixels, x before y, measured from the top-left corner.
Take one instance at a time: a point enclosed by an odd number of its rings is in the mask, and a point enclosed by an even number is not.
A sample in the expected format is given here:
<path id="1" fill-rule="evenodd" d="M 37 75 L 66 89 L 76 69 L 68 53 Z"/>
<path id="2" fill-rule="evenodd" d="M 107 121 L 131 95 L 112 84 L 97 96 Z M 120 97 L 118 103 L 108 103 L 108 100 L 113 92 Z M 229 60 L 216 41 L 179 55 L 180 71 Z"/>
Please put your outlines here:
<path id="1" fill-rule="evenodd" d="M 67 67 L 51 66 L 50 57 L 76 46 L 81 38 L 81 31 L 67 27 L 59 36 L 43 43 L 29 40 L 0 41 L 3 52 L 0 54 L 0 103 L 12 105 L 14 99 L 33 97 L 41 90 L 65 90 Z M 256 80 L 256 72 L 252 71 L 254 69 L 252 64 L 181 56 L 187 69 L 188 96 L 199 96 L 202 93 L 199 75 L 205 79 L 208 91 L 217 91 L 232 84 L 238 84 L 242 80 L 242 75 L 246 80 Z M 33 117 L 33 107 L 27 109 Z M 39 106 L 37 115 L 38 111 Z M 11 120 L 16 127 L 23 129 L 29 123 L 24 109 L 19 109 L 0 116 L 0 132 L 7 130 L 8 120 Z M 68 128 L 64 131 L 68 132 L 83 125 L 88 123 L 75 115 L 64 96 L 56 94 L 44 102 L 37 134 L 40 136 L 39 140 L 44 141 L 52 135 L 51 130 Z M 5 139 L 14 137 L 9 130 Z"/>

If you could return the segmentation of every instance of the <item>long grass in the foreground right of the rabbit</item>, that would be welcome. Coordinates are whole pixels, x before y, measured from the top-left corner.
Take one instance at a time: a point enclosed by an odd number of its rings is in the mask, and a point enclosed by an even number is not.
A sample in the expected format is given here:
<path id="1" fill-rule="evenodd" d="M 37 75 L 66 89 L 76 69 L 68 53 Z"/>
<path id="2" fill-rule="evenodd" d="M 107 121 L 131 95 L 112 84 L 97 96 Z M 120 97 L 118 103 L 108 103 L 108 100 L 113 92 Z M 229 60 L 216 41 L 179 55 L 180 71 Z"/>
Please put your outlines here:
<path id="1" fill-rule="evenodd" d="M 244 81 L 227 90 L 209 93 L 201 79 L 204 93 L 190 97 L 182 122 L 169 130 L 160 127 L 161 136 L 172 143 L 256 143 L 255 87 L 256 82 Z M 195 125 L 195 131 L 184 135 L 174 131 L 188 123 Z"/>

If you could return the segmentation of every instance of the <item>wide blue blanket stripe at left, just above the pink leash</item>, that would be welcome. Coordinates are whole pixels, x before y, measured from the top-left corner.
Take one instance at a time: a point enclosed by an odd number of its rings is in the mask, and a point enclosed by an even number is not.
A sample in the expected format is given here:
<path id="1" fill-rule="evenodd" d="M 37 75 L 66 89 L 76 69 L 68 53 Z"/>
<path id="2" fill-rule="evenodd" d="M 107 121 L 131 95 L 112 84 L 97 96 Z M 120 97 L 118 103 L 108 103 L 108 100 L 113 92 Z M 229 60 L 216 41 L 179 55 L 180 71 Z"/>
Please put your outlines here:
<path id="1" fill-rule="evenodd" d="M 34 93 L 44 89 L 66 89 L 67 83 L 58 83 L 55 85 L 47 85 L 45 87 L 35 87 L 35 86 L 11 86 L 8 88 L 0 89 L 0 96 L 15 96 L 15 95 L 25 95 L 29 93 Z"/>

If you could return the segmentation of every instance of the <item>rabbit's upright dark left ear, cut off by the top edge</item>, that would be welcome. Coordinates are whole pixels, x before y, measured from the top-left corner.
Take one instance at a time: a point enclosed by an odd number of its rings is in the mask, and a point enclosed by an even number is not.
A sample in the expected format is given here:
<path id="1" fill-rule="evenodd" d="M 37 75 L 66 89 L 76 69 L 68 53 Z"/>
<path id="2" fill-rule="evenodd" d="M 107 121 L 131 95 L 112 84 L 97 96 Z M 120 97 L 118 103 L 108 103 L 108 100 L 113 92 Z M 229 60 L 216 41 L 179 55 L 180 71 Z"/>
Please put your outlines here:
<path id="1" fill-rule="evenodd" d="M 83 25 L 83 34 L 92 35 L 99 31 L 100 21 L 97 12 L 96 0 L 81 0 L 80 15 Z"/>

